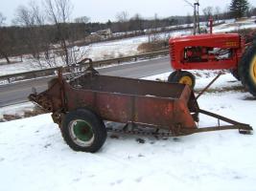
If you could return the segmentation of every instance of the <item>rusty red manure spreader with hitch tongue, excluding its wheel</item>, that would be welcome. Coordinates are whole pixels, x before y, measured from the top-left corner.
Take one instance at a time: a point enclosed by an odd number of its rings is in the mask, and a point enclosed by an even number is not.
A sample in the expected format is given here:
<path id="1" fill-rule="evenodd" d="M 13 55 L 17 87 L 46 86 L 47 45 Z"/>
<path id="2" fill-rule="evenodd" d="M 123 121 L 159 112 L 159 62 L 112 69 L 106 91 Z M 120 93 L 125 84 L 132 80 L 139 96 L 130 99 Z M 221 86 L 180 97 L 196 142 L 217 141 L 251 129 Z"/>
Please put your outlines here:
<path id="1" fill-rule="evenodd" d="M 173 136 L 225 129 L 252 130 L 249 125 L 200 110 L 189 86 L 142 79 L 100 75 L 93 68 L 69 83 L 58 74 L 49 89 L 29 96 L 61 128 L 65 115 L 85 108 L 104 120 L 168 130 Z M 216 117 L 230 126 L 198 129 L 198 114 Z"/>

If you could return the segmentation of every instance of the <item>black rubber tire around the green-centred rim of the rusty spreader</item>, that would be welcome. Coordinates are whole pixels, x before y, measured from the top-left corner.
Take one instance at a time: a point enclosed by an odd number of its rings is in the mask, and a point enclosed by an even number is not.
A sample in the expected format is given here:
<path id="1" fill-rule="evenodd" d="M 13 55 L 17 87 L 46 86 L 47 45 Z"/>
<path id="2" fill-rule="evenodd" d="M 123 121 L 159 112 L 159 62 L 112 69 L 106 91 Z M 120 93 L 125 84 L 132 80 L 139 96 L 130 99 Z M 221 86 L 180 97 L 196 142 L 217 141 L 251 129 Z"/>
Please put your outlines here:
<path id="1" fill-rule="evenodd" d="M 82 120 L 90 125 L 94 137 L 90 145 L 81 146 L 78 143 L 76 143 L 76 141 L 73 140 L 71 136 L 72 133 L 70 125 L 74 120 Z M 105 143 L 106 129 L 103 120 L 91 111 L 86 109 L 78 109 L 69 112 L 62 120 L 60 129 L 62 137 L 64 138 L 65 142 L 69 145 L 70 148 L 72 148 L 75 151 L 95 153 L 99 149 L 101 149 L 101 147 Z"/>

